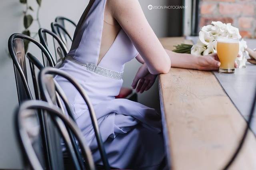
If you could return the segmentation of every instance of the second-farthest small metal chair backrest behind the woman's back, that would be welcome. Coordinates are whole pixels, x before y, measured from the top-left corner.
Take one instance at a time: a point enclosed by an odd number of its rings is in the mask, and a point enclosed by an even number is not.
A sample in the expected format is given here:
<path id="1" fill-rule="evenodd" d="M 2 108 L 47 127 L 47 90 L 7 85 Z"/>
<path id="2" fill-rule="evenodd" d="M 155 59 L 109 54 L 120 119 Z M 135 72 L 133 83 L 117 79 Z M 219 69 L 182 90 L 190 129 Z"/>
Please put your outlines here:
<path id="1" fill-rule="evenodd" d="M 64 26 L 62 26 L 61 24 L 59 24 L 57 22 L 52 22 L 51 23 L 51 28 L 52 28 L 52 32 L 57 34 L 61 38 L 61 40 L 66 44 L 66 46 L 68 46 L 68 42 L 67 42 L 66 37 L 68 37 L 68 39 L 71 42 L 73 41 L 71 35 L 68 33 L 66 28 Z"/>

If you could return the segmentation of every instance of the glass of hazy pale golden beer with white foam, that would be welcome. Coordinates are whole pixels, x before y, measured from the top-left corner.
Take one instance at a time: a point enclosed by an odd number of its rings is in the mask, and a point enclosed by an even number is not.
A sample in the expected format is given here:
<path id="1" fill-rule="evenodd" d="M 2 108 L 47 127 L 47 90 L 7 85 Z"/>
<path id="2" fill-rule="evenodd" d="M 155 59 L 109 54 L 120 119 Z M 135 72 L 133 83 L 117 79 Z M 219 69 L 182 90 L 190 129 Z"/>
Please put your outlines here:
<path id="1" fill-rule="evenodd" d="M 234 73 L 234 62 L 238 56 L 239 40 L 232 38 L 217 38 L 217 53 L 220 59 L 220 73 Z"/>

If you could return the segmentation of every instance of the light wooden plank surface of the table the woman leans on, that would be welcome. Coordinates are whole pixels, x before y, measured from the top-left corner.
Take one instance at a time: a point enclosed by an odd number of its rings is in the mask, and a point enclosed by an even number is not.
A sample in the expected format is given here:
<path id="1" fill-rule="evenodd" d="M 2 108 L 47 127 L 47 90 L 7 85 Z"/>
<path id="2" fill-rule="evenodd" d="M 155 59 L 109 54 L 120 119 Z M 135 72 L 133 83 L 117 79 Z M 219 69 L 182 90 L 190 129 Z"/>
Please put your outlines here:
<path id="1" fill-rule="evenodd" d="M 160 38 L 166 49 L 191 43 Z M 246 87 L 245 87 L 246 88 Z M 168 164 L 173 170 L 220 170 L 234 153 L 246 121 L 210 71 L 171 68 L 159 76 L 160 104 Z M 256 170 L 252 131 L 232 170 Z"/>

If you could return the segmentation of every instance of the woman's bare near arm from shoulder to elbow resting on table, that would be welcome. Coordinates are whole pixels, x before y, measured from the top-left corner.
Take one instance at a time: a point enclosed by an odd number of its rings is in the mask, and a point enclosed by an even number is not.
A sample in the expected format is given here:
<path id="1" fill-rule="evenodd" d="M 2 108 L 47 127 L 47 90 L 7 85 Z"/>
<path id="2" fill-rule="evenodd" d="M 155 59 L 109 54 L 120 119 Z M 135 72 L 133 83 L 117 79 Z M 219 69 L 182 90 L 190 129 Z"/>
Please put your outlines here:
<path id="1" fill-rule="evenodd" d="M 148 24 L 138 0 L 108 0 L 112 16 L 129 36 L 152 74 L 168 73 L 170 57 Z"/>

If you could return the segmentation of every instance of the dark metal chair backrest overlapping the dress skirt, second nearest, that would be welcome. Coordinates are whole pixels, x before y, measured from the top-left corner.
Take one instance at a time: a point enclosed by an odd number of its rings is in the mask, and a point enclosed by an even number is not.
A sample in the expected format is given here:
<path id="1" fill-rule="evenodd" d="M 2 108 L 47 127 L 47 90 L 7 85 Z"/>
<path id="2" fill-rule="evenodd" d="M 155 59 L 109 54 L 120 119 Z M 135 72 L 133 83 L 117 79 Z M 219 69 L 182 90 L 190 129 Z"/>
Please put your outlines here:
<path id="1" fill-rule="evenodd" d="M 97 143 L 98 143 L 98 149 L 100 151 L 100 156 L 102 158 L 102 162 L 103 162 L 106 170 L 109 170 L 110 166 L 109 166 L 109 163 L 108 163 L 108 159 L 106 157 L 106 152 L 105 152 L 105 149 L 104 149 L 104 146 L 103 146 L 102 137 L 100 135 L 100 130 L 99 130 L 99 127 L 98 127 L 98 121 L 96 119 L 96 115 L 95 115 L 93 106 L 92 106 L 92 104 L 89 100 L 89 97 L 87 96 L 85 90 L 74 78 L 72 78 L 72 76 L 70 76 L 65 71 L 62 71 L 62 70 L 57 69 L 57 68 L 46 67 L 46 68 L 44 68 L 40 71 L 39 76 L 38 76 L 38 84 L 39 84 L 40 92 L 41 92 L 41 95 L 42 95 L 42 99 L 45 100 L 45 101 L 50 101 L 51 100 L 50 94 L 48 93 L 48 90 L 47 90 L 46 81 L 45 81 L 45 77 L 47 75 L 54 75 L 54 76 L 58 75 L 58 76 L 61 76 L 61 77 L 65 78 L 68 82 L 70 82 L 77 89 L 77 91 L 80 93 L 80 95 L 84 99 L 85 104 L 88 106 L 88 111 L 89 111 L 90 118 L 91 118 L 91 121 L 92 121 L 92 126 L 94 128 L 94 132 L 95 132 L 96 140 L 97 140 Z M 63 103 L 64 103 L 64 105 L 67 109 L 68 114 L 72 115 L 72 111 L 70 109 L 70 104 L 68 103 L 66 95 L 64 94 L 63 90 L 58 85 L 58 83 L 56 81 L 54 81 L 54 83 L 55 83 L 56 91 L 58 92 L 61 99 L 63 100 Z"/>

